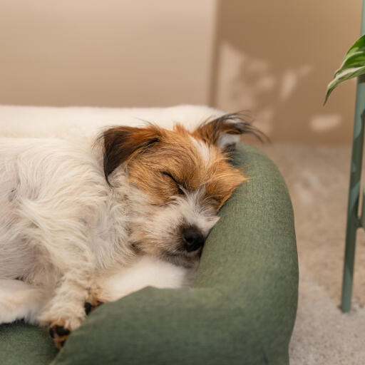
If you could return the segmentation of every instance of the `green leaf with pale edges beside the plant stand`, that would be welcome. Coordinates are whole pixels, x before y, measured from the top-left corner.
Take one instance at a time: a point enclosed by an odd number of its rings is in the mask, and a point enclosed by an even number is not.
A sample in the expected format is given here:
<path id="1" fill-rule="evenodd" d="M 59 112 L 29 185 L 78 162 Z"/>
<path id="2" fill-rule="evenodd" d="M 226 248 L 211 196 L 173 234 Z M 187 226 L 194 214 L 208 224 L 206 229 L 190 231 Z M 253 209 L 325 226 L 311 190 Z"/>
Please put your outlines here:
<path id="1" fill-rule="evenodd" d="M 361 36 L 347 51 L 341 67 L 334 73 L 334 79 L 328 84 L 325 104 L 329 94 L 339 83 L 342 83 L 350 78 L 354 78 L 365 73 L 365 35 Z"/>

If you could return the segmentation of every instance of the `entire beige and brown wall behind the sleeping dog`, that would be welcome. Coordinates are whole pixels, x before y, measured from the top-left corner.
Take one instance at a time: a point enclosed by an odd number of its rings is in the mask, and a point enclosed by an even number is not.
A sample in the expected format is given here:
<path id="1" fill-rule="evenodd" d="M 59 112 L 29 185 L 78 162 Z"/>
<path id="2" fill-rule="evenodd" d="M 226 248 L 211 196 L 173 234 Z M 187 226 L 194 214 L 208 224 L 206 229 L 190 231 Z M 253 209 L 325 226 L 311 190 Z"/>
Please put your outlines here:
<path id="1" fill-rule="evenodd" d="M 351 6 L 349 6 L 351 4 Z M 0 0 L 0 103 L 250 108 L 273 141 L 349 143 L 322 107 L 361 0 Z"/>

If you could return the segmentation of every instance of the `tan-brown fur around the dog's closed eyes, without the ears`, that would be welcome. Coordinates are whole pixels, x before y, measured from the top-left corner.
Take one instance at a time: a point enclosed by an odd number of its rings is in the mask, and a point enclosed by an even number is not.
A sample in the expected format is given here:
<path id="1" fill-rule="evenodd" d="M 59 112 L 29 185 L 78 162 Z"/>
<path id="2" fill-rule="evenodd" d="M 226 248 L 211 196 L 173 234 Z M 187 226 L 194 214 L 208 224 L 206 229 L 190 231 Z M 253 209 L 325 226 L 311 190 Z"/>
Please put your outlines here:
<path id="1" fill-rule="evenodd" d="M 219 209 L 245 178 L 215 145 L 207 145 L 206 160 L 191 137 L 182 125 L 161 132 L 158 145 L 128 160 L 129 180 L 156 205 L 178 195 L 179 187 L 187 192 L 205 187 L 206 198 Z"/>

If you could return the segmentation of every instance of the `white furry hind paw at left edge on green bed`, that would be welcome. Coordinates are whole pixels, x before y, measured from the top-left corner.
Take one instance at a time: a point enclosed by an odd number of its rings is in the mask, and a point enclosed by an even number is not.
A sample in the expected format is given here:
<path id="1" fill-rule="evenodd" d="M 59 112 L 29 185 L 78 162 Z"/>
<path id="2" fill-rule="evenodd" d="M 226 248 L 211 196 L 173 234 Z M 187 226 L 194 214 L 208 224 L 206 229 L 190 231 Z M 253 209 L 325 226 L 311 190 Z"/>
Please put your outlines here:
<path id="1" fill-rule="evenodd" d="M 44 289 L 16 279 L 0 279 L 0 324 L 24 319 L 38 324 L 38 314 L 48 297 Z"/>

